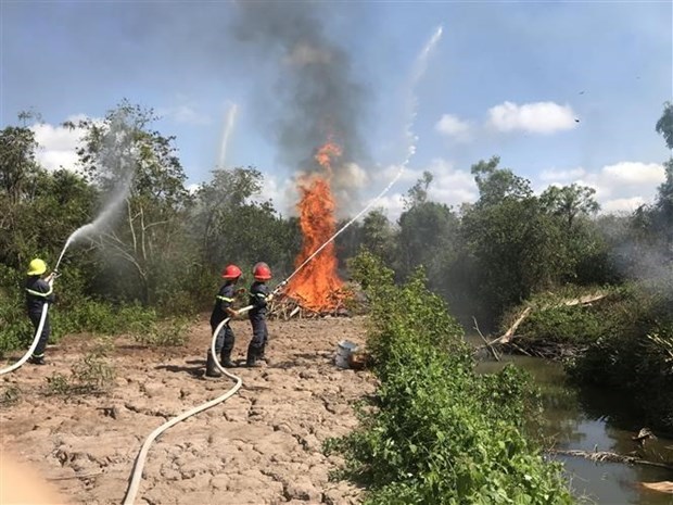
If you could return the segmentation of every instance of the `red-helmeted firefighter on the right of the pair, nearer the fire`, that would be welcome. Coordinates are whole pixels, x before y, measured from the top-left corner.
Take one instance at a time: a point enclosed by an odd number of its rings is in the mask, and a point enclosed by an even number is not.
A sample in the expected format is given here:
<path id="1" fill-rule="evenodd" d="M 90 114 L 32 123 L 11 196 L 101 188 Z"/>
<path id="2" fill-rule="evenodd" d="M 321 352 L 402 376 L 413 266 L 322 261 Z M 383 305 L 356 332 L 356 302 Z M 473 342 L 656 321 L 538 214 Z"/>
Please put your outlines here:
<path id="1" fill-rule="evenodd" d="M 247 345 L 247 358 L 245 366 L 256 366 L 258 359 L 266 359 L 265 350 L 268 340 L 266 329 L 266 305 L 271 301 L 272 294 L 266 282 L 271 278 L 271 269 L 266 263 L 259 262 L 253 268 L 255 281 L 250 287 L 250 305 L 253 308 L 249 313 L 252 324 L 253 337 Z M 268 362 L 267 362 L 268 363 Z"/>

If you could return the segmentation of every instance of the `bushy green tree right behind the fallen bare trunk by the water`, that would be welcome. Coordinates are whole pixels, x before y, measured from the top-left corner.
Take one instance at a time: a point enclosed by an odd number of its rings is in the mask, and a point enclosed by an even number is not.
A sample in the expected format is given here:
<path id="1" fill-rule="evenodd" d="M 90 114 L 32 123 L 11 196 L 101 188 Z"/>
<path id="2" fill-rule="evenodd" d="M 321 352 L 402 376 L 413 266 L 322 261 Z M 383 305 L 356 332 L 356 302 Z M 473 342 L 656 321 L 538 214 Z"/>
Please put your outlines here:
<path id="1" fill-rule="evenodd" d="M 473 258 L 474 300 L 491 324 L 572 272 L 558 218 L 545 212 L 526 179 L 498 162 L 494 156 L 472 166 L 480 198 L 465 209 L 461 223 L 464 256 Z"/>

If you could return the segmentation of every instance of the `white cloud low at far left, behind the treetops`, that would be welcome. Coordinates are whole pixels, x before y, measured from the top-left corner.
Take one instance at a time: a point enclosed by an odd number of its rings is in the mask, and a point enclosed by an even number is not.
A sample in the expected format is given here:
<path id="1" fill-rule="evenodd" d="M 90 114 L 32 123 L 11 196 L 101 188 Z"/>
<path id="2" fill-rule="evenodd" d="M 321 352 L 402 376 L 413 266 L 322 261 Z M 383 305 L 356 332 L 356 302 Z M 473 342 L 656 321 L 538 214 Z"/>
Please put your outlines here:
<path id="1" fill-rule="evenodd" d="M 84 117 L 82 115 L 72 116 L 68 121 L 77 123 Z M 40 165 L 52 172 L 60 168 L 77 172 L 76 149 L 84 134 L 81 129 L 69 129 L 47 123 L 33 125 L 30 129 L 35 132 L 35 140 L 39 144 L 36 157 Z"/>

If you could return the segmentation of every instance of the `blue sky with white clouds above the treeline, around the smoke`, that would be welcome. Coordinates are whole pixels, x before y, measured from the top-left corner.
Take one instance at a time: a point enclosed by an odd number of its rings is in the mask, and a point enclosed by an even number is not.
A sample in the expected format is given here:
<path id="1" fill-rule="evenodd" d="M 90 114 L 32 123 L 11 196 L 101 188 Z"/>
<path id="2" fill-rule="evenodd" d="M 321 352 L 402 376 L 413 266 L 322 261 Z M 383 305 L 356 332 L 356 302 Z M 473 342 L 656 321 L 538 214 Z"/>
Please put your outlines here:
<path id="1" fill-rule="evenodd" d="M 218 164 L 236 104 L 225 164 L 257 166 L 265 195 L 285 212 L 295 198 L 292 176 L 303 168 L 288 163 L 278 140 L 279 116 L 292 105 L 292 67 L 283 63 L 289 53 L 262 40 L 263 27 L 276 25 L 266 25 L 267 9 L 255 4 L 262 9 L 243 29 L 259 31 L 251 48 L 234 36 L 236 2 L 3 0 L 2 126 L 15 124 L 20 111 L 39 112 L 41 160 L 68 166 L 73 134 L 58 125 L 101 117 L 127 98 L 163 115 L 157 128 L 177 137 L 189 182 L 199 184 Z M 670 1 L 283 5 L 314 18 L 314 37 L 342 51 L 346 80 L 361 90 L 347 116 L 364 146 L 348 172 L 358 182 L 342 188 L 350 212 L 404 161 L 411 96 L 417 151 L 382 201 L 393 216 L 424 169 L 435 176 L 432 198 L 473 200 L 470 165 L 494 154 L 537 190 L 595 187 L 606 211 L 650 201 L 663 180 L 669 152 L 655 124 L 673 96 Z M 418 54 L 439 26 L 442 37 L 411 88 Z M 293 40 L 303 43 L 297 31 Z"/>

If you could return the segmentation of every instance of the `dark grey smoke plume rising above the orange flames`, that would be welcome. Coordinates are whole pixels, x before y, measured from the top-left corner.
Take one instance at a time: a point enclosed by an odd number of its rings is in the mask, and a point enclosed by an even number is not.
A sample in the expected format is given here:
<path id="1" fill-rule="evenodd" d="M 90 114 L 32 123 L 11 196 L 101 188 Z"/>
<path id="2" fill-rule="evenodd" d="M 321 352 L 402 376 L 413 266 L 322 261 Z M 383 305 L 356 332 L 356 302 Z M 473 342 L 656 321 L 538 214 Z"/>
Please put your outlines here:
<path id="1" fill-rule="evenodd" d="M 334 190 L 352 186 L 341 173 L 352 172 L 355 162 L 367 157 L 359 131 L 366 91 L 355 81 L 346 52 L 326 35 L 325 5 L 246 2 L 238 8 L 237 39 L 253 51 L 254 61 L 270 64 L 275 76 L 274 88 L 262 86 L 259 98 L 277 137 L 280 162 L 293 171 L 318 171 L 313 156 L 331 140 L 343 151 L 332 166 Z"/>

